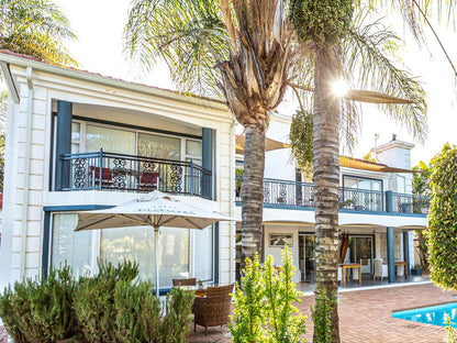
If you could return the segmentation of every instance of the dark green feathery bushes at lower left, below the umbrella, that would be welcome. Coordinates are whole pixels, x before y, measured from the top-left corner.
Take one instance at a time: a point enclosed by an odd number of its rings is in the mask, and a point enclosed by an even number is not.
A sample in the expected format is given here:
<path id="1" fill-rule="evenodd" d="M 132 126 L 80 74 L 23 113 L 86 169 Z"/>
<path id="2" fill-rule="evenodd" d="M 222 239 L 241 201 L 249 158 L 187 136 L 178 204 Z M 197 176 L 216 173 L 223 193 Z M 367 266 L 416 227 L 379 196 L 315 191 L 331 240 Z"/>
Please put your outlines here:
<path id="1" fill-rule="evenodd" d="M 0 296 L 0 317 L 16 343 L 177 343 L 190 329 L 193 292 L 174 288 L 164 311 L 151 281 L 135 281 L 138 265 L 99 264 L 92 278 L 51 268 L 41 283 L 16 283 Z M 164 317 L 161 317 L 164 312 Z"/>

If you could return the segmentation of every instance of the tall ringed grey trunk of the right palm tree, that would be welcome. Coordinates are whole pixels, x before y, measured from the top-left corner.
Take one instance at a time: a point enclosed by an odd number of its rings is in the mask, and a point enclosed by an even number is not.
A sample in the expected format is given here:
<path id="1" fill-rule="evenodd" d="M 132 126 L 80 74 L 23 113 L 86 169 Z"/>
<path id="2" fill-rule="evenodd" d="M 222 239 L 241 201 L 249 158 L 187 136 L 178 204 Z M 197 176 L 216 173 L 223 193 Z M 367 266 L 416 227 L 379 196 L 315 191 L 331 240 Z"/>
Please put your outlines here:
<path id="1" fill-rule="evenodd" d="M 338 187 L 339 187 L 339 100 L 332 82 L 339 77 L 337 47 L 317 49 L 314 77 L 314 213 L 315 213 L 315 301 L 331 301 L 332 342 L 339 342 L 337 295 Z M 316 338 L 314 342 L 323 342 Z"/>

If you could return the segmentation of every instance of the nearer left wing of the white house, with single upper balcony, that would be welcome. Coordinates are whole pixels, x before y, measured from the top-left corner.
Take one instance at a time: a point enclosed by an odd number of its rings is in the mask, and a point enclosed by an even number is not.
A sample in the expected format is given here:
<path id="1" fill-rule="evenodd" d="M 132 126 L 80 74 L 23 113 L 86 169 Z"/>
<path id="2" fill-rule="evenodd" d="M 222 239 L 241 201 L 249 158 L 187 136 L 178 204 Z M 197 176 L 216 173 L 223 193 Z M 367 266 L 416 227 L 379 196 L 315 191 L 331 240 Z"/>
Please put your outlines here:
<path id="1" fill-rule="evenodd" d="M 153 230 L 75 233 L 75 211 L 155 188 L 232 214 L 234 119 L 224 103 L 62 68 L 1 52 L 9 88 L 0 279 L 4 286 L 69 262 L 141 261 L 154 275 Z M 234 223 L 164 229 L 160 278 L 230 283 Z"/>

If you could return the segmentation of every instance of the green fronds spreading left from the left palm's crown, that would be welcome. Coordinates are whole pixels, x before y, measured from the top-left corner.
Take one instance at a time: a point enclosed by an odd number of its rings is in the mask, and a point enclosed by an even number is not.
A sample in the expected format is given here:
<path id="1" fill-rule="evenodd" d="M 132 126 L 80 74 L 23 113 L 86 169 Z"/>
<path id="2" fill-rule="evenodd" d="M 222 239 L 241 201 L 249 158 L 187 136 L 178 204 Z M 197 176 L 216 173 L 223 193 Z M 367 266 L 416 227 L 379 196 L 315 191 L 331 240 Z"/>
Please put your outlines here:
<path id="1" fill-rule="evenodd" d="M 183 91 L 219 96 L 214 65 L 228 55 L 215 1 L 137 0 L 129 13 L 125 51 L 146 70 L 163 58 Z"/>

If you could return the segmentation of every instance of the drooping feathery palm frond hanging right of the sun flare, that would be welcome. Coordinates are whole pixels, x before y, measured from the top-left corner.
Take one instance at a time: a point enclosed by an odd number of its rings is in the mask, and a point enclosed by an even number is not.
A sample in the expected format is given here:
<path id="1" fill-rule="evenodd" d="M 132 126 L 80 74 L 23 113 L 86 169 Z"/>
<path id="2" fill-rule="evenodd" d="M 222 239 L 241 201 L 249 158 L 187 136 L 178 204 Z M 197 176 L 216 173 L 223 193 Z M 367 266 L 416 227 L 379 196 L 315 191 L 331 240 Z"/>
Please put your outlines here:
<path id="1" fill-rule="evenodd" d="M 357 88 L 412 101 L 411 104 L 384 104 L 382 109 L 423 142 L 427 133 L 425 91 L 395 57 L 400 43 L 400 38 L 379 21 L 366 25 L 358 23 L 344 42 L 345 73 L 350 71 Z"/>

